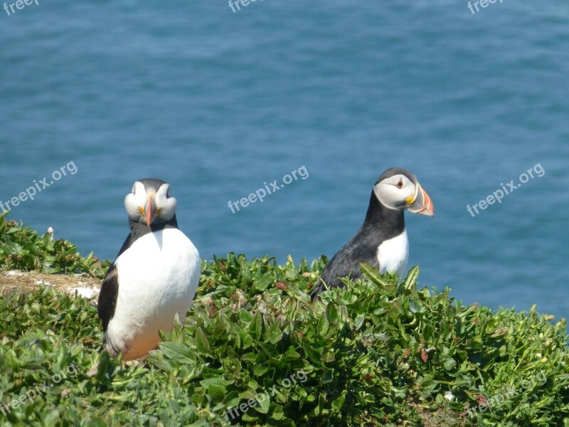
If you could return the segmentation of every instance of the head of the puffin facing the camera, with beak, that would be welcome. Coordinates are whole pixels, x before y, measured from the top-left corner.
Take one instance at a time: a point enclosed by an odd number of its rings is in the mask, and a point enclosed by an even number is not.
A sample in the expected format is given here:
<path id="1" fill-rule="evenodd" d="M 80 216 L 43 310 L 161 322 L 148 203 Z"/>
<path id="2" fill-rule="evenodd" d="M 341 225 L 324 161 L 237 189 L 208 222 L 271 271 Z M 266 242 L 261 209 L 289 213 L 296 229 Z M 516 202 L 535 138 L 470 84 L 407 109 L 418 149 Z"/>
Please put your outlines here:
<path id="1" fill-rule="evenodd" d="M 170 196 L 170 184 L 154 178 L 139 179 L 132 186 L 132 193 L 124 198 L 129 218 L 145 226 L 170 221 L 176 204 L 176 198 Z"/>

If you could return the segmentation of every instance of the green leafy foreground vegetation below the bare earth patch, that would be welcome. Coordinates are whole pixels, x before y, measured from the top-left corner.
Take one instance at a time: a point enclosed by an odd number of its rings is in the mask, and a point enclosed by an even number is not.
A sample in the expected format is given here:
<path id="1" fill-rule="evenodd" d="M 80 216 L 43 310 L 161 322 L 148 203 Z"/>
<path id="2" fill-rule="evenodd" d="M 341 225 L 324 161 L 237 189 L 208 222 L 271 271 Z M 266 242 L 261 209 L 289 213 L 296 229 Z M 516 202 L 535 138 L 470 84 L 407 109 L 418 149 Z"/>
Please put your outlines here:
<path id="1" fill-rule="evenodd" d="M 204 262 L 186 322 L 142 364 L 98 352 L 83 298 L 3 295 L 0 425 L 569 426 L 565 320 L 464 306 L 419 288 L 417 267 L 362 265 L 312 303 L 325 263 Z"/>

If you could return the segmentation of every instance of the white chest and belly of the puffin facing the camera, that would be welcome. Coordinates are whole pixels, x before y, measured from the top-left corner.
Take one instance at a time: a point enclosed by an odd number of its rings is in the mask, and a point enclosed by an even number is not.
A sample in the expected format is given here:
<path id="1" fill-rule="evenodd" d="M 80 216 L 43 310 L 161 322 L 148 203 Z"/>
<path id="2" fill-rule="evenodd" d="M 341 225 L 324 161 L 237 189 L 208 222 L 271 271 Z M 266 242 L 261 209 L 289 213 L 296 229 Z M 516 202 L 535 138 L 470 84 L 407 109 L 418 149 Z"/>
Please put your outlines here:
<path id="1" fill-rule="evenodd" d="M 109 324 L 112 341 L 135 359 L 154 349 L 176 312 L 184 320 L 199 285 L 201 263 L 193 243 L 176 228 L 137 239 L 116 260 L 119 290 Z"/>

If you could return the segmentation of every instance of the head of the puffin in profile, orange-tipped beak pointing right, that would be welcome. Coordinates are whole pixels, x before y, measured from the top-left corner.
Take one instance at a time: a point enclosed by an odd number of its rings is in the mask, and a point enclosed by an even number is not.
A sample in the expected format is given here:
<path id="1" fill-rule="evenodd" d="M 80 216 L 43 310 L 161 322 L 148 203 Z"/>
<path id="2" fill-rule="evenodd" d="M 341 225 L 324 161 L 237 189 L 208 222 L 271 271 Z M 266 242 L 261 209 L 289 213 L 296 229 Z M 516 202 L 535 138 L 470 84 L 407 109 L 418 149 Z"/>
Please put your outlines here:
<path id="1" fill-rule="evenodd" d="M 399 167 L 383 172 L 373 186 L 373 193 L 389 209 L 408 209 L 413 214 L 428 216 L 435 212 L 429 195 L 421 188 L 415 175 Z"/>

